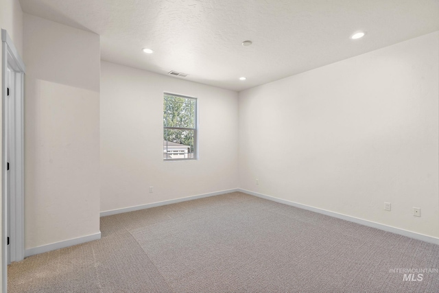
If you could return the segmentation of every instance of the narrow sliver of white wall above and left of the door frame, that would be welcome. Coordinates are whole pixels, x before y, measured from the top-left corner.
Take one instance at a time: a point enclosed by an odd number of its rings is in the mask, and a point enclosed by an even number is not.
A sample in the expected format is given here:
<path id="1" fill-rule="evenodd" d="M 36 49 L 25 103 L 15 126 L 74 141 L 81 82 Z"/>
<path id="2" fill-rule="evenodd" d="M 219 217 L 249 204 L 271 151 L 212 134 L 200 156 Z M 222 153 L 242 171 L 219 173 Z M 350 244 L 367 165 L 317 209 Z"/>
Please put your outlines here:
<path id="1" fill-rule="evenodd" d="M 8 31 L 12 42 L 16 49 L 19 51 L 19 54 L 23 57 L 23 12 L 21 11 L 21 6 L 19 0 L 1 0 L 0 1 L 0 28 Z M 1 51 L 1 49 L 0 49 Z M 0 89 L 3 89 L 2 85 L 2 77 L 1 77 L 1 67 L 2 60 L 0 57 Z M 0 129 L 2 127 L 3 118 L 1 117 L 2 109 L 0 103 Z M 0 136 L 0 154 L 1 150 L 1 136 Z M 0 156 L 0 166 L 1 166 L 1 156 Z M 1 178 L 2 169 L 0 168 L 0 178 Z M 1 180 L 0 180 L 0 190 L 1 190 Z M 2 215 L 1 215 L 1 200 L 0 200 L 0 227 L 3 225 L 2 223 Z M 0 252 L 3 250 L 3 243 L 0 242 Z M 0 263 L 1 263 L 1 253 L 0 253 Z M 0 276 L 2 275 L 2 266 L 0 266 Z M 0 277 L 0 288 L 2 286 L 2 280 Z M 1 290 L 1 289 L 0 289 Z"/>

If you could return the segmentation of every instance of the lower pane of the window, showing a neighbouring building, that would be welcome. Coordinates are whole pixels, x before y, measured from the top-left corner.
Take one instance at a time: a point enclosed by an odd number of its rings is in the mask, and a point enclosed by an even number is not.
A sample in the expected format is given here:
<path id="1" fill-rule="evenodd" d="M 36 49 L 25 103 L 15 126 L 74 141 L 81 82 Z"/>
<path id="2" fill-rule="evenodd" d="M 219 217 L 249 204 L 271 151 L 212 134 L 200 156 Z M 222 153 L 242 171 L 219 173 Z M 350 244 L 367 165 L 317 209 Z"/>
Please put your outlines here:
<path id="1" fill-rule="evenodd" d="M 192 159 L 195 130 L 163 130 L 163 159 Z"/>

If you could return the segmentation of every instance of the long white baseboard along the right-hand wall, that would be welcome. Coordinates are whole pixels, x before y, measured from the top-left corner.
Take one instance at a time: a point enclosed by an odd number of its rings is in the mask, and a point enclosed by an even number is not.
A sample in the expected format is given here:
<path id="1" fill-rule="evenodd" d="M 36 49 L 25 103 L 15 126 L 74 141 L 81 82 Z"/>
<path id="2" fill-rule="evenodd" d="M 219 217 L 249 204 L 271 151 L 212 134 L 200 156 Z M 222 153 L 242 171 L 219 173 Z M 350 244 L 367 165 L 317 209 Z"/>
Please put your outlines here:
<path id="1" fill-rule="evenodd" d="M 369 226 L 369 227 L 372 227 L 372 228 L 377 228 L 379 230 L 383 230 L 383 231 L 387 231 L 387 232 L 403 235 L 403 236 L 414 238 L 414 239 L 418 239 L 418 240 L 421 240 L 421 241 L 424 241 L 424 242 L 429 242 L 429 243 L 432 243 L 432 244 L 439 244 L 439 238 L 436 238 L 436 237 L 431 237 L 431 236 L 428 236 L 428 235 L 423 235 L 423 234 L 420 234 L 420 233 L 415 233 L 415 232 L 412 232 L 412 231 L 407 231 L 407 230 L 404 230 L 404 229 L 401 229 L 401 228 L 396 228 L 396 227 L 393 227 L 393 226 L 387 226 L 385 224 L 379 224 L 377 222 L 372 222 L 372 221 L 363 220 L 363 219 L 360 219 L 360 218 L 355 218 L 355 217 L 352 217 L 351 215 L 343 215 L 342 213 L 335 213 L 333 211 L 327 211 L 326 209 L 319 209 L 317 207 L 311 207 L 311 206 L 308 206 L 306 204 L 299 204 L 297 202 L 292 202 L 292 201 L 289 201 L 289 200 L 283 200 L 281 198 L 275 198 L 274 196 L 267 196 L 265 194 L 259 194 L 257 192 L 249 191 L 249 190 L 246 190 L 246 189 L 238 189 L 238 191 L 242 192 L 244 194 L 250 194 L 250 196 L 257 196 L 259 198 L 265 198 L 266 200 L 272 200 L 274 202 L 279 202 L 281 204 L 287 204 L 287 205 L 290 205 L 292 207 L 298 207 L 300 209 L 307 209 L 308 211 L 313 211 L 313 212 L 316 212 L 316 213 L 322 213 L 323 215 L 329 215 L 329 216 L 334 217 L 334 218 L 346 220 L 346 221 L 349 221 L 349 222 L 354 222 L 354 223 L 361 224 L 361 225 L 364 225 L 364 226 Z"/>

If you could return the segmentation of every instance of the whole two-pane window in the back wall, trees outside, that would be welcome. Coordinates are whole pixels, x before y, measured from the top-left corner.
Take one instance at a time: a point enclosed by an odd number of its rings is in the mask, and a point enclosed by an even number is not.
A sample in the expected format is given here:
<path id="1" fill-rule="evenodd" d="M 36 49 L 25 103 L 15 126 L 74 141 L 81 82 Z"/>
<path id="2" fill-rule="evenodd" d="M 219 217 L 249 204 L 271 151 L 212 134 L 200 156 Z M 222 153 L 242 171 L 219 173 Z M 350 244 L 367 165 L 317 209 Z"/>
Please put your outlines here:
<path id="1" fill-rule="evenodd" d="M 197 156 L 197 99 L 165 93 L 163 97 L 163 160 Z"/>

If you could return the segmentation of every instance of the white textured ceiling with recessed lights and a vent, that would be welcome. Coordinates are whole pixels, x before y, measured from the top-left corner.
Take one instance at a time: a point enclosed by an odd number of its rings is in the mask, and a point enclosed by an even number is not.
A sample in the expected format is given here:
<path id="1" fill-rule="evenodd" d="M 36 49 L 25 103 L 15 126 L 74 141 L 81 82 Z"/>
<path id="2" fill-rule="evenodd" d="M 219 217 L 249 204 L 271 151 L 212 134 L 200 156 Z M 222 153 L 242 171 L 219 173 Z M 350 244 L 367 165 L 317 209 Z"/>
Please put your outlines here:
<path id="1" fill-rule="evenodd" d="M 20 0 L 102 60 L 241 91 L 439 30 L 439 0 Z M 357 30 L 364 38 L 351 40 Z M 243 47 L 244 40 L 253 45 Z M 144 54 L 147 47 L 154 54 Z M 246 76 L 246 81 L 238 80 Z M 178 78 L 178 77 L 175 77 Z"/>

